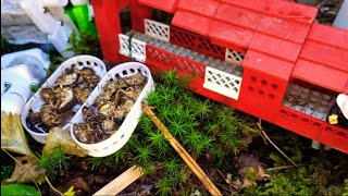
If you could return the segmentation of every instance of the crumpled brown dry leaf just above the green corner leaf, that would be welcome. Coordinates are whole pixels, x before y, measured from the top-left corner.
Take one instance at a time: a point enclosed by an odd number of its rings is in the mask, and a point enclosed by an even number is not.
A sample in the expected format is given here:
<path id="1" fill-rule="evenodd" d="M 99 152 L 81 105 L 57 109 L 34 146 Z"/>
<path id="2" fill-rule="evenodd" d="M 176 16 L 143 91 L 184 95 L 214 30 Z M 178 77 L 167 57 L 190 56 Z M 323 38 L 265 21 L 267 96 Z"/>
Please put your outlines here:
<path id="1" fill-rule="evenodd" d="M 36 158 L 24 156 L 14 159 L 16 161 L 11 177 L 1 183 L 33 183 L 33 181 L 35 181 L 36 183 L 41 184 L 45 182 L 45 170 L 39 168 Z"/>

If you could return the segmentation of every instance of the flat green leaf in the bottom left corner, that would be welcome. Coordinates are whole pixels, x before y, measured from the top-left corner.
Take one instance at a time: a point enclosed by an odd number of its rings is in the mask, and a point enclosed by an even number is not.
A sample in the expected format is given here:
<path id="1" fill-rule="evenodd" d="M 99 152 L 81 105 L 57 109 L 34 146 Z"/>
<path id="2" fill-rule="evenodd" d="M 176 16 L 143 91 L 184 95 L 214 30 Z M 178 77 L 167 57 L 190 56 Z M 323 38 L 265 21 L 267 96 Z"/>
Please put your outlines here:
<path id="1" fill-rule="evenodd" d="M 1 185 L 1 195 L 26 195 L 26 196 L 36 196 L 41 195 L 35 187 L 25 185 L 25 184 L 8 184 Z"/>

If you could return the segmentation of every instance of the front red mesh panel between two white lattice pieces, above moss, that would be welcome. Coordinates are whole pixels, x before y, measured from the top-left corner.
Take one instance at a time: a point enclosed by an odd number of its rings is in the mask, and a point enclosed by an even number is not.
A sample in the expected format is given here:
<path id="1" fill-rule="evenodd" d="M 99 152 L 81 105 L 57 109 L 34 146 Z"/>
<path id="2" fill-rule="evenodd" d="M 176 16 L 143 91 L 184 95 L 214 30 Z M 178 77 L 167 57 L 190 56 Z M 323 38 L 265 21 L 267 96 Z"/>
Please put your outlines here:
<path id="1" fill-rule="evenodd" d="M 204 78 L 204 64 L 191 61 L 150 45 L 146 46 L 146 63 L 154 65 L 161 71 L 174 70 L 181 75 L 195 74 L 196 77 Z"/>

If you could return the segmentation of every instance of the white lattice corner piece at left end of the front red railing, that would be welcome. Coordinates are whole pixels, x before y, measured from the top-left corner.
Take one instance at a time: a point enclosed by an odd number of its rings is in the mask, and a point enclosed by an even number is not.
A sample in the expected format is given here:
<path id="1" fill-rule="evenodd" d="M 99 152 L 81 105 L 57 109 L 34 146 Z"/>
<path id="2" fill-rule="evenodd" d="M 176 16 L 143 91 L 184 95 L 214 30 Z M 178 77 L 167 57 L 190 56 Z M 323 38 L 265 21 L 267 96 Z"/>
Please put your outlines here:
<path id="1" fill-rule="evenodd" d="M 146 61 L 146 42 L 132 38 L 129 50 L 129 37 L 123 34 L 119 35 L 120 39 L 120 53 L 128 58 L 133 58 L 139 62 Z"/>

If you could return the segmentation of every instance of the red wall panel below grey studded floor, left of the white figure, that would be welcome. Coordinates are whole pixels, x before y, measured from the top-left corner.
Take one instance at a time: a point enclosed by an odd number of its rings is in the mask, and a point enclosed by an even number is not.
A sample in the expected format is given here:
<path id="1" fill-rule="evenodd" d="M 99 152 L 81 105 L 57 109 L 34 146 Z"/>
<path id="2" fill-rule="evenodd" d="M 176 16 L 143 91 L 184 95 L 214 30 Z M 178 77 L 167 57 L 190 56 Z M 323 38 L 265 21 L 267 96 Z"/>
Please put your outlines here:
<path id="1" fill-rule="evenodd" d="M 325 122 L 282 106 L 275 123 L 304 137 L 316 140 Z"/>

